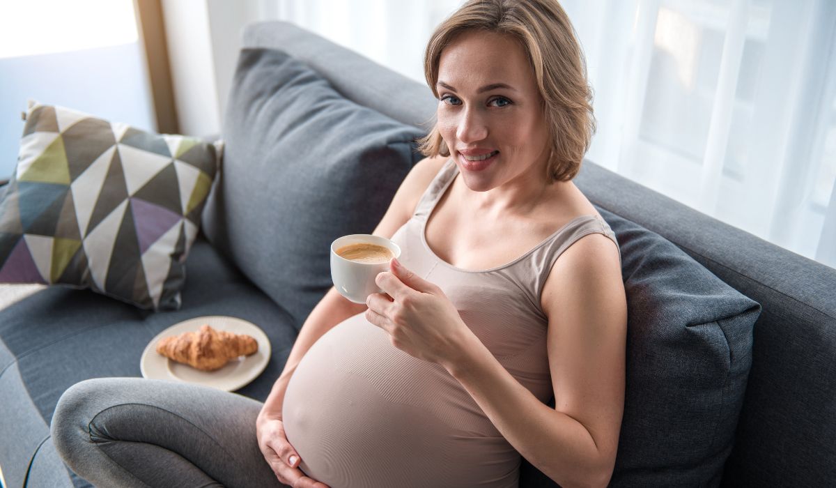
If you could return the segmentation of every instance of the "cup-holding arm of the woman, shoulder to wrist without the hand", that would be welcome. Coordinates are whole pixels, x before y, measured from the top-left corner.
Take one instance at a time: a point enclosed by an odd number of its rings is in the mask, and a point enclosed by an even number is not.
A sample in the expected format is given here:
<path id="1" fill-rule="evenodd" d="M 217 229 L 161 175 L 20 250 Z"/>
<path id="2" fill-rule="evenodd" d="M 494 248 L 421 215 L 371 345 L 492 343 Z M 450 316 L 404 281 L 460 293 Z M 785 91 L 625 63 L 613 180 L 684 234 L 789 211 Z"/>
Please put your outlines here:
<path id="1" fill-rule="evenodd" d="M 567 249 L 541 297 L 555 408 L 540 403 L 476 336 L 446 364 L 532 465 L 569 486 L 606 486 L 624 413 L 627 306 L 619 255 L 601 234 Z"/>

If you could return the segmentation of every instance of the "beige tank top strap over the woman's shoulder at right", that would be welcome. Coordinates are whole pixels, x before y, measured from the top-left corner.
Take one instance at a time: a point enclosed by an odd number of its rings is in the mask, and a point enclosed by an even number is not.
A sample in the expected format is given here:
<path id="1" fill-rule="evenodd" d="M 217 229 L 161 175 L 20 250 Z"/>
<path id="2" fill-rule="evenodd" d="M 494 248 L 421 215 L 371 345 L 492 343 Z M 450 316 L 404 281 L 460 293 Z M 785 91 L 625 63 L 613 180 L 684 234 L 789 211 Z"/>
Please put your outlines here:
<path id="1" fill-rule="evenodd" d="M 615 239 L 613 230 L 609 228 L 609 224 L 603 218 L 600 218 L 597 214 L 581 215 L 570 220 L 561 229 L 558 229 L 541 244 L 538 244 L 526 256 L 527 263 L 520 263 L 519 266 L 513 266 L 506 271 L 514 275 L 512 280 L 516 281 L 517 285 L 528 291 L 530 300 L 540 313 L 543 313 L 540 310 L 540 295 L 543 293 L 543 285 L 545 285 L 554 263 L 563 254 L 563 251 L 589 234 L 604 234 L 618 248 L 618 240 Z M 621 251 L 619 249 L 619 259 L 620 257 Z"/>

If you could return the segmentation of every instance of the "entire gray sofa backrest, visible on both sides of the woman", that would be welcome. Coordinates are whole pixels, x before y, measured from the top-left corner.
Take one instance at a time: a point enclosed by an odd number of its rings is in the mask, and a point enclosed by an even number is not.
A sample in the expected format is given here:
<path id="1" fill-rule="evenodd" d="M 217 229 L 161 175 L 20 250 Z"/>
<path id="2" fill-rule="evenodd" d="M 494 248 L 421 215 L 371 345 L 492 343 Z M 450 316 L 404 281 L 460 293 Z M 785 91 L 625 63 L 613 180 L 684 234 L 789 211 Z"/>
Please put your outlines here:
<path id="1" fill-rule="evenodd" d="M 429 127 L 431 91 L 290 23 L 248 26 L 243 47 L 282 49 L 345 97 Z M 382 95 L 382 96 L 381 96 Z M 393 101 L 394 100 L 394 101 Z M 736 446 L 723 483 L 824 485 L 836 479 L 836 270 L 732 228 L 594 162 L 575 180 L 589 199 L 684 249 L 762 305 Z"/>

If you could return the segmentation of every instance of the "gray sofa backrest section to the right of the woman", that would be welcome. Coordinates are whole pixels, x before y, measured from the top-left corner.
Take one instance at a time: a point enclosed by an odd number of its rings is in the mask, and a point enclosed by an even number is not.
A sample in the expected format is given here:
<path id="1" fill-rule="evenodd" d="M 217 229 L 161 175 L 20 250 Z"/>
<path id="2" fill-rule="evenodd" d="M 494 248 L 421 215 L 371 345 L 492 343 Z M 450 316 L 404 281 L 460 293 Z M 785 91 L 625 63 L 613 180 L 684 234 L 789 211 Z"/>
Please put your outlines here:
<path id="1" fill-rule="evenodd" d="M 594 163 L 575 182 L 600 207 L 661 234 L 762 305 L 723 485 L 833 485 L 836 270 Z"/>

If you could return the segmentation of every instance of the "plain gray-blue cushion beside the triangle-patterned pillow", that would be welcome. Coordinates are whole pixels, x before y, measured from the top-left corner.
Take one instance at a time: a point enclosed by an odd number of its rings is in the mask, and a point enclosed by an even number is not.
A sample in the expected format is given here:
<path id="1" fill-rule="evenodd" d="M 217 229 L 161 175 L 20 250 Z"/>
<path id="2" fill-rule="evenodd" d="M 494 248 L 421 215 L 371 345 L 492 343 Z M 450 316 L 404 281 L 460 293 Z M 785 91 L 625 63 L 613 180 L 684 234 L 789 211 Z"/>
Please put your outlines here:
<path id="1" fill-rule="evenodd" d="M 227 106 L 206 235 L 301 326 L 331 285 L 329 244 L 375 228 L 423 134 L 274 49 L 242 49 Z"/>

